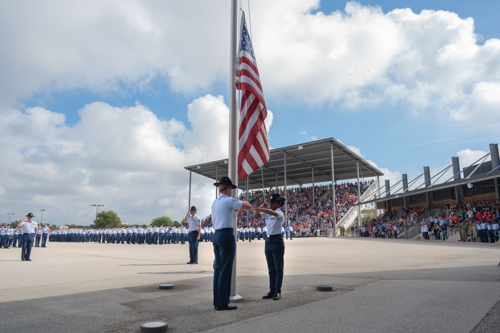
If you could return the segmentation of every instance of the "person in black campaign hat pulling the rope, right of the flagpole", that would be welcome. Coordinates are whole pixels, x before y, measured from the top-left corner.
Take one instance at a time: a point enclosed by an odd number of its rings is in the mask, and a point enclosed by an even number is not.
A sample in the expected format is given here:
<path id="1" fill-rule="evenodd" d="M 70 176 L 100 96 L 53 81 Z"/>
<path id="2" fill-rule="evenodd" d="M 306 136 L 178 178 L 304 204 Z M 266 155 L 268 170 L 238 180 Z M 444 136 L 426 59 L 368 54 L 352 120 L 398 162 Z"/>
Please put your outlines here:
<path id="1" fill-rule="evenodd" d="M 269 292 L 262 296 L 263 299 L 281 298 L 281 284 L 283 283 L 283 256 L 285 254 L 285 242 L 281 235 L 283 225 L 283 212 L 279 207 L 285 203 L 285 198 L 278 193 L 269 197 L 269 208 L 264 202 L 259 208 L 253 208 L 254 218 L 265 218 L 267 237 L 265 238 L 264 253 L 266 255 L 267 269 L 269 270 Z"/>

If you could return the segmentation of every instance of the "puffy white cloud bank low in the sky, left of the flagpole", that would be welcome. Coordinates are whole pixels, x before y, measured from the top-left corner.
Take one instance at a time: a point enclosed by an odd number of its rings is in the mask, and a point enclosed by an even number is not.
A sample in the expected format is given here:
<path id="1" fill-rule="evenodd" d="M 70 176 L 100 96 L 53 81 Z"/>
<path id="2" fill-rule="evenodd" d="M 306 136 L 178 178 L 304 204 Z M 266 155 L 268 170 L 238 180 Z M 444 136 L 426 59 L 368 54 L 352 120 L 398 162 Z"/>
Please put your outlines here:
<path id="1" fill-rule="evenodd" d="M 222 97 L 193 101 L 191 130 L 160 120 L 143 105 L 84 106 L 81 121 L 44 108 L 11 110 L 0 124 L 3 179 L 0 202 L 17 212 L 47 209 L 59 224 L 91 223 L 90 204 L 104 204 L 128 223 L 167 214 L 180 220 L 188 208 L 187 165 L 227 157 L 228 110 Z M 202 144 L 204 143 L 204 144 Z M 208 215 L 214 199 L 206 178 L 193 177 L 192 203 Z M 28 211 L 26 211 L 28 213 Z M 45 219 L 44 219 L 45 221 Z"/>

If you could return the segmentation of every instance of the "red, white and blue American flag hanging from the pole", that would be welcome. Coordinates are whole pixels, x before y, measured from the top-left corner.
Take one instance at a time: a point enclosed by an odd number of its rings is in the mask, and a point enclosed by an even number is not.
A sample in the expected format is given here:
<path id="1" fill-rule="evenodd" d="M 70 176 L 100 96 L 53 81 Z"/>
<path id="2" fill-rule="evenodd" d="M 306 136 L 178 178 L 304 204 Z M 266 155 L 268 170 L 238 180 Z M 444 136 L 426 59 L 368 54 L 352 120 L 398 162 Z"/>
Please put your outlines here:
<path id="1" fill-rule="evenodd" d="M 238 175 L 241 179 L 245 179 L 269 160 L 269 146 L 264 124 L 267 116 L 266 102 L 244 14 L 241 16 L 236 88 L 243 91 L 240 104 Z"/>

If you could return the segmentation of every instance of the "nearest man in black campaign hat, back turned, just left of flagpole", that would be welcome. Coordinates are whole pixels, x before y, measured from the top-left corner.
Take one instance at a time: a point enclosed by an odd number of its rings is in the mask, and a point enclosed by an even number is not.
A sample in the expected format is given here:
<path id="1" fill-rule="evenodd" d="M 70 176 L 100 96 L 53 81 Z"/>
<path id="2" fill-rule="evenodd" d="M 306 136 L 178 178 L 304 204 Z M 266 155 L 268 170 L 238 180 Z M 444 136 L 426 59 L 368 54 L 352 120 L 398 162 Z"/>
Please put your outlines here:
<path id="1" fill-rule="evenodd" d="M 252 208 L 246 201 L 232 198 L 232 190 L 237 186 L 229 177 L 222 177 L 214 183 L 219 187 L 219 196 L 212 204 L 212 224 L 215 229 L 212 238 L 214 246 L 214 308 L 216 310 L 235 310 L 238 306 L 229 302 L 231 294 L 231 276 L 236 253 L 236 238 L 234 237 L 235 210 Z"/>

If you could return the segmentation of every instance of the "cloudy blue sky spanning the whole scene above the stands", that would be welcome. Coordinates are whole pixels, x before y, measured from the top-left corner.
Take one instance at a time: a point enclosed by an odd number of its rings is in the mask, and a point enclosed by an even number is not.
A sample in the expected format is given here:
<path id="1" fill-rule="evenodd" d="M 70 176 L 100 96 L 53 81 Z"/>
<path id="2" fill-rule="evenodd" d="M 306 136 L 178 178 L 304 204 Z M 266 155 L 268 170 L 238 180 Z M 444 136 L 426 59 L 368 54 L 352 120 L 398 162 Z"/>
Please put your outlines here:
<path id="1" fill-rule="evenodd" d="M 499 141 L 498 2 L 250 6 L 272 148 L 334 137 L 395 183 Z M 227 156 L 227 7 L 0 4 L 0 207 L 56 224 L 87 223 L 93 203 L 130 223 L 183 216 L 183 167 Z M 206 215 L 212 185 L 193 181 Z"/>

